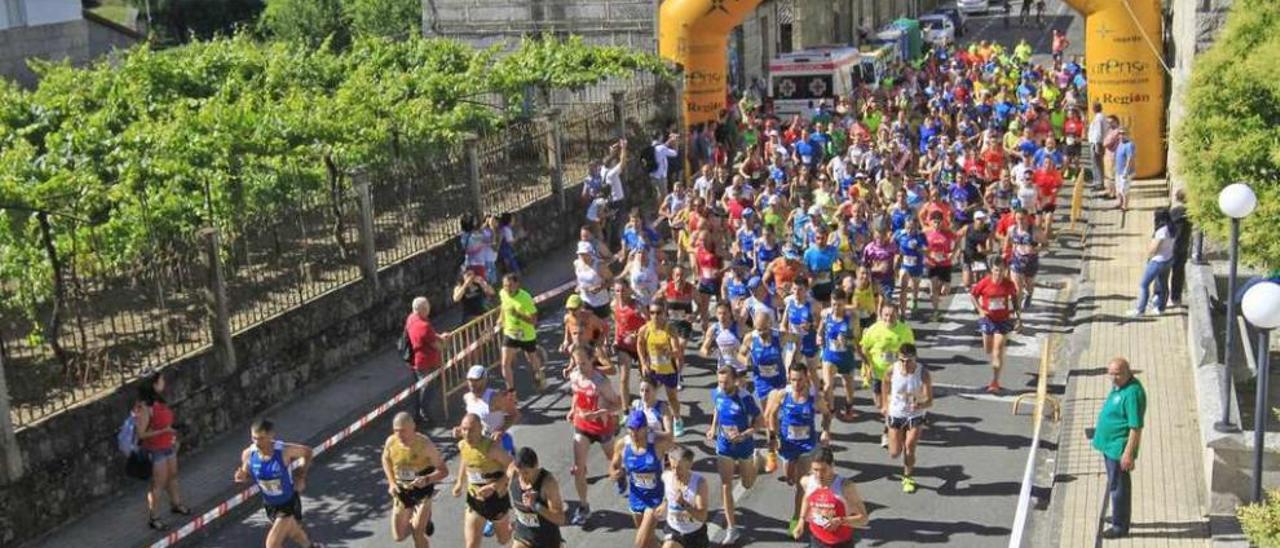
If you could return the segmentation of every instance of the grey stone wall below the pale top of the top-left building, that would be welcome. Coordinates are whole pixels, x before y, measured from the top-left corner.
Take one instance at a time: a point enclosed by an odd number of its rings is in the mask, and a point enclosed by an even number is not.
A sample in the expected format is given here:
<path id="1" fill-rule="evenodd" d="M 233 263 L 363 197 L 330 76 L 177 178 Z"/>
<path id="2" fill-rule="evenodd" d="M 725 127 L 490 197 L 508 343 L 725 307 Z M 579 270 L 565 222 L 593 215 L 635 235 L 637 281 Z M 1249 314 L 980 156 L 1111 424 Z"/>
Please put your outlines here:
<path id="1" fill-rule="evenodd" d="M 6 28 L 0 31 L 0 77 L 33 87 L 36 73 L 27 67 L 27 59 L 69 60 L 78 65 L 136 41 L 127 29 L 100 18 Z"/>

